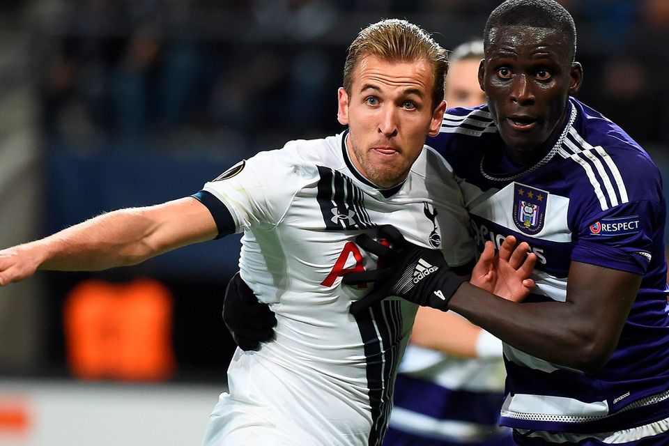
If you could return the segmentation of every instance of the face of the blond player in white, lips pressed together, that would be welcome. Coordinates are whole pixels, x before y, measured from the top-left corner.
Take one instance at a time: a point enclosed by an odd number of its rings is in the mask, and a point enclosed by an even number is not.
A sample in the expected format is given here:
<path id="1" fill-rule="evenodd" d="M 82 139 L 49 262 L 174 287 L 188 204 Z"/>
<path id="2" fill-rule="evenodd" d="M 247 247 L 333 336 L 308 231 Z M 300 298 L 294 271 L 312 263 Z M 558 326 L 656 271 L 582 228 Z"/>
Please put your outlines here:
<path id="1" fill-rule="evenodd" d="M 432 104 L 432 86 L 425 60 L 389 62 L 368 55 L 355 68 L 351 94 L 339 89 L 337 118 L 348 125 L 348 154 L 372 183 L 401 183 L 425 137 L 438 133 L 445 104 Z"/>

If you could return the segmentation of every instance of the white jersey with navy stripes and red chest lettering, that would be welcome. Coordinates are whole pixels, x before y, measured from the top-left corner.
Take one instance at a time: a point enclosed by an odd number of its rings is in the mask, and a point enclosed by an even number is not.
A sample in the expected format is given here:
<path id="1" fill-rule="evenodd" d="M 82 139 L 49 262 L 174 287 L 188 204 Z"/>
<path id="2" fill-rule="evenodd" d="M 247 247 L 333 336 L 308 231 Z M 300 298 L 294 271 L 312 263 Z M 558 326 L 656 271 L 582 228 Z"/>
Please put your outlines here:
<path id="1" fill-rule="evenodd" d="M 380 444 L 417 307 L 390 298 L 348 313 L 369 290 L 341 276 L 376 268 L 355 236 L 393 224 L 453 266 L 474 257 L 461 192 L 437 153 L 425 148 L 400 187 L 378 190 L 352 167 L 345 136 L 292 141 L 203 187 L 212 215 L 224 206 L 244 232 L 240 274 L 278 321 L 259 351 L 236 351 L 207 445 Z"/>

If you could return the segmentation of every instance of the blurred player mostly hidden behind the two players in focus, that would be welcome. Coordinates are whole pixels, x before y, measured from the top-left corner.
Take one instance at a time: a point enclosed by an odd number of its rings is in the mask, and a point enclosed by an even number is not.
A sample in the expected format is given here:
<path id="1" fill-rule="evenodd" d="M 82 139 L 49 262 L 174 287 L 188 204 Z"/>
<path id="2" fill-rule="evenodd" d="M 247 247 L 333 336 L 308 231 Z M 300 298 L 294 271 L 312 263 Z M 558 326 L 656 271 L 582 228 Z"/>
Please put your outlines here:
<path id="1" fill-rule="evenodd" d="M 447 107 L 486 103 L 478 81 L 483 40 L 449 54 Z M 512 445 L 499 426 L 502 341 L 454 312 L 420 307 L 399 366 L 384 446 Z"/>

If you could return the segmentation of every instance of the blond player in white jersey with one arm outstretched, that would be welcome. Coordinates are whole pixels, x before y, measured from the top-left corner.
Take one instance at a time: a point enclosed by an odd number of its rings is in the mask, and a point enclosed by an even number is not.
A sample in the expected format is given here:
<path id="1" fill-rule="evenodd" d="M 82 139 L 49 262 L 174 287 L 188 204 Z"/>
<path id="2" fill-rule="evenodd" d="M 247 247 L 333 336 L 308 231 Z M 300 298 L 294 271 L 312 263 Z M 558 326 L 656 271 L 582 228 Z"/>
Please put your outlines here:
<path id="1" fill-rule="evenodd" d="M 370 25 L 349 49 L 339 89 L 338 118 L 348 130 L 259 153 L 193 197 L 116 210 L 3 249 L 0 285 L 37 269 L 139 263 L 243 231 L 241 275 L 277 314 L 277 336 L 257 352 L 236 353 L 205 444 L 378 445 L 417 306 L 391 298 L 353 316 L 351 302 L 367 289 L 341 286 L 341 279 L 377 268 L 355 240 L 371 240 L 386 224 L 417 246 L 443 249 L 454 268 L 474 256 L 459 187 L 423 146 L 442 122 L 446 63 L 417 26 Z M 472 283 L 524 298 L 535 257 L 526 243 L 512 253 L 513 245 L 509 238 L 493 259 L 489 244 Z M 417 259 L 408 289 L 420 290 L 435 271 Z M 447 277 L 435 292 L 440 299 L 489 294 L 455 272 L 440 277 Z"/>

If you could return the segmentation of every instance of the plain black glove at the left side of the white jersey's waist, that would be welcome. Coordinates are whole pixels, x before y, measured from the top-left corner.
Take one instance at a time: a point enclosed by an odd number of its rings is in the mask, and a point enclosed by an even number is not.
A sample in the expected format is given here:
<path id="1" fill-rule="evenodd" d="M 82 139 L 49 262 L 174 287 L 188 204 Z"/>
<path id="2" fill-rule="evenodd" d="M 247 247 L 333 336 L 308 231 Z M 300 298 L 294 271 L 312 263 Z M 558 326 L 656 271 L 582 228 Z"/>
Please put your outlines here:
<path id="1" fill-rule="evenodd" d="M 243 351 L 257 350 L 261 341 L 272 339 L 273 328 L 277 325 L 277 317 L 270 306 L 258 302 L 239 272 L 225 290 L 223 321 Z"/>

